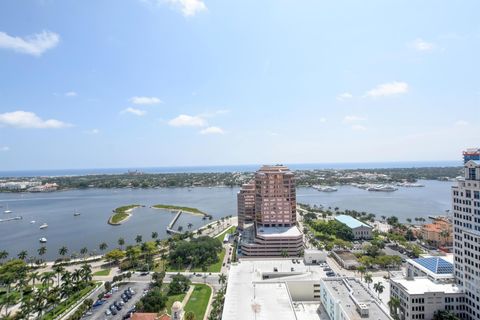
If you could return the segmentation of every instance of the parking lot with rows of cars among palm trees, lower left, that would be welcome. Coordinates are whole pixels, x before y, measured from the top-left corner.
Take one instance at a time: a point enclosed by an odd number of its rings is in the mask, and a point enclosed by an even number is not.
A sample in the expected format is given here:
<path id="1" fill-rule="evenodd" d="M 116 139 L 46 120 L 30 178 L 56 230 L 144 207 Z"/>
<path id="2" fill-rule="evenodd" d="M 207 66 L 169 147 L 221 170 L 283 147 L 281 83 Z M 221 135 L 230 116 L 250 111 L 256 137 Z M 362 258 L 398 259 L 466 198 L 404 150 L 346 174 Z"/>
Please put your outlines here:
<path id="1" fill-rule="evenodd" d="M 117 310 L 116 315 L 107 315 L 105 312 L 109 309 L 109 307 L 115 302 L 119 302 L 122 300 L 121 295 L 127 288 L 132 288 L 135 291 L 135 294 L 132 296 L 130 300 L 125 302 L 125 305 L 122 307 L 122 310 Z M 117 320 L 122 319 L 124 315 L 128 313 L 128 310 L 132 309 L 137 303 L 138 300 L 142 297 L 143 290 L 148 288 L 148 283 L 126 283 L 123 285 L 118 286 L 118 291 L 113 292 L 110 298 L 105 299 L 105 303 L 92 308 L 92 315 L 85 317 L 85 319 L 92 319 L 92 320 Z"/>

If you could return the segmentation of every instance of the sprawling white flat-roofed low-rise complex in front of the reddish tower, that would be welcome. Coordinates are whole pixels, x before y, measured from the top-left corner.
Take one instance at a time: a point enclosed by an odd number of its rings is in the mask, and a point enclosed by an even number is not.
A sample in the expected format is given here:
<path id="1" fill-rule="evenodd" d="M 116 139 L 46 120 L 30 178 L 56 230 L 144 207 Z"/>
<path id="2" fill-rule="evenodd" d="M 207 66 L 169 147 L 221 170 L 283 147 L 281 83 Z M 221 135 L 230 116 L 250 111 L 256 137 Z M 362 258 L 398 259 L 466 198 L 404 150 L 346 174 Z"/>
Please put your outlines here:
<path id="1" fill-rule="evenodd" d="M 392 320 L 353 278 L 327 278 L 320 266 L 243 258 L 231 266 L 222 320 Z"/>

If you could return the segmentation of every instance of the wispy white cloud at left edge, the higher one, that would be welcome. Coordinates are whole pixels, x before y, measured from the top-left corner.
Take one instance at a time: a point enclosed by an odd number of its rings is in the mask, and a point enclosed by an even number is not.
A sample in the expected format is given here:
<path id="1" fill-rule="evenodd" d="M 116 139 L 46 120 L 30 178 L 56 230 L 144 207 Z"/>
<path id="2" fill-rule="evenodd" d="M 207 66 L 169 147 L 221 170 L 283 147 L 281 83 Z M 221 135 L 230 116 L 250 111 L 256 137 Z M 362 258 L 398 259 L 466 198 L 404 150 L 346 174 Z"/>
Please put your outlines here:
<path id="1" fill-rule="evenodd" d="M 11 49 L 32 56 L 41 56 L 45 51 L 55 47 L 60 36 L 54 32 L 42 31 L 27 37 L 12 37 L 0 32 L 0 48 Z"/>

